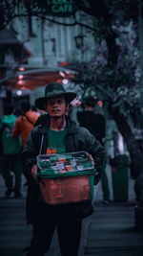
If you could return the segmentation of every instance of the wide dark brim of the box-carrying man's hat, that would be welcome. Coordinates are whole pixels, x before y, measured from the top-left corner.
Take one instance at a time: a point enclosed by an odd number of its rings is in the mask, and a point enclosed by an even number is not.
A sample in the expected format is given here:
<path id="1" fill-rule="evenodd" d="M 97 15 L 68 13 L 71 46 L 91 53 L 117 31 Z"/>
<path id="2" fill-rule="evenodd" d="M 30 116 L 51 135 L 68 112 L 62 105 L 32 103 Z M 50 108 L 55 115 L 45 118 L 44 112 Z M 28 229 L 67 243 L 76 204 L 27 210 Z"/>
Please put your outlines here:
<path id="1" fill-rule="evenodd" d="M 45 110 L 45 105 L 47 103 L 47 101 L 51 98 L 55 98 L 57 96 L 64 96 L 65 99 L 71 103 L 75 98 L 76 98 L 76 93 L 74 92 L 66 92 L 66 93 L 62 93 L 62 94 L 54 94 L 53 97 L 41 97 L 35 100 L 34 105 L 41 110 Z"/>

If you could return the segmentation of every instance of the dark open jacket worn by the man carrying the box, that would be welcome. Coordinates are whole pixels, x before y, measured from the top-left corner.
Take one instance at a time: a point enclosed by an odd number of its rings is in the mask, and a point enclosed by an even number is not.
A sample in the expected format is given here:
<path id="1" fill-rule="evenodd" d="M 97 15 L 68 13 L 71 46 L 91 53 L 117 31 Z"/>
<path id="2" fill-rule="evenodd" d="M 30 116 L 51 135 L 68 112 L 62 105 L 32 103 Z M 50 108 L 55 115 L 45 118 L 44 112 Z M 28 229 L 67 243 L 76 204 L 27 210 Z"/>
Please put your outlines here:
<path id="1" fill-rule="evenodd" d="M 31 130 L 31 134 L 22 152 L 22 163 L 24 174 L 29 181 L 27 217 L 28 223 L 32 221 L 34 215 L 34 205 L 39 196 L 39 186 L 31 176 L 31 167 L 36 164 L 36 156 L 45 154 L 48 148 L 48 128 L 50 124 L 39 125 Z M 43 140 L 43 141 L 42 141 Z M 72 122 L 67 122 L 67 135 L 65 137 L 66 152 L 88 151 L 92 154 L 97 172 L 101 172 L 105 159 L 105 151 L 101 144 L 92 136 L 87 128 L 76 127 Z M 52 207 L 52 206 L 51 206 Z M 73 203 L 77 216 L 88 217 L 92 214 L 92 202 Z M 31 209 L 30 209 L 31 208 Z"/>

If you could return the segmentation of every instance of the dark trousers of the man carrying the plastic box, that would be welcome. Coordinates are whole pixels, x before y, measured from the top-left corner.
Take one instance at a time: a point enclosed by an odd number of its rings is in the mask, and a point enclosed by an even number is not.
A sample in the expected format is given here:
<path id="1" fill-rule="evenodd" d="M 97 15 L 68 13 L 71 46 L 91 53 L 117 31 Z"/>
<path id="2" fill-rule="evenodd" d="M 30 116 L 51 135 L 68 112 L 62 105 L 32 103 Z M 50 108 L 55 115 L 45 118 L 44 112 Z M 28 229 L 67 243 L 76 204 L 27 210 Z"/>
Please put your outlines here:
<path id="1" fill-rule="evenodd" d="M 77 256 L 82 221 L 69 205 L 51 206 L 45 203 L 40 203 L 36 209 L 29 256 L 43 256 L 49 250 L 55 227 L 61 255 Z"/>

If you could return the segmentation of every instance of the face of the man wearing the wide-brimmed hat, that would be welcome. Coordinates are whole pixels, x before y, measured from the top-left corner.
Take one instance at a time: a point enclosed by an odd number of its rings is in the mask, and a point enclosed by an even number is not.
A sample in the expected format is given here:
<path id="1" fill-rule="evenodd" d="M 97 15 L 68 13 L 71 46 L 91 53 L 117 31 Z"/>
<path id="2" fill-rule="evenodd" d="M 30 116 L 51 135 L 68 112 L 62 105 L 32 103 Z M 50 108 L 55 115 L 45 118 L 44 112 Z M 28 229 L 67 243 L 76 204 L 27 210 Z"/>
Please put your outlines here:
<path id="1" fill-rule="evenodd" d="M 45 109 L 49 112 L 52 118 L 60 118 L 66 114 L 69 105 L 66 104 L 66 100 L 64 96 L 51 98 L 48 100 Z"/>

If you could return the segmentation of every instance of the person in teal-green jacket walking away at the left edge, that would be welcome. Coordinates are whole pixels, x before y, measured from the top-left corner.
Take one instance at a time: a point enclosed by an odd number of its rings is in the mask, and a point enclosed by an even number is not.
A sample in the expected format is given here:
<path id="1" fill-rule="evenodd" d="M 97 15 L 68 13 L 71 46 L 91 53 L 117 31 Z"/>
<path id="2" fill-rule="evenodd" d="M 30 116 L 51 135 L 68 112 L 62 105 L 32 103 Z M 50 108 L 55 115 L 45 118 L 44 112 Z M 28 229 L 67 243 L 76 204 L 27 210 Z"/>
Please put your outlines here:
<path id="1" fill-rule="evenodd" d="M 14 192 L 14 198 L 21 198 L 22 166 L 20 155 L 22 147 L 20 138 L 14 138 L 12 135 L 15 120 L 16 116 L 13 114 L 13 106 L 10 104 L 5 105 L 4 115 L 0 122 L 2 175 L 7 187 L 5 196 L 10 197 L 11 193 Z M 15 177 L 14 188 L 12 174 Z"/>

